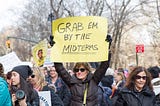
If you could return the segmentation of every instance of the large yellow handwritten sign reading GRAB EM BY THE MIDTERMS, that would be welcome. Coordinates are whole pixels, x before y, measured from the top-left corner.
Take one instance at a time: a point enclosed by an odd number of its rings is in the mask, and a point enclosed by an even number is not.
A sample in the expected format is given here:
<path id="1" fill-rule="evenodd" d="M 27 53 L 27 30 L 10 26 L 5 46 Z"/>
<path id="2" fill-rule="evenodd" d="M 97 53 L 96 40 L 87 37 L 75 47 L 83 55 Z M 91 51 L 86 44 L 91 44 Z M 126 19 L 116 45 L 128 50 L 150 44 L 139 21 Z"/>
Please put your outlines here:
<path id="1" fill-rule="evenodd" d="M 54 62 L 95 62 L 108 59 L 107 19 L 98 16 L 60 18 L 52 22 Z"/>

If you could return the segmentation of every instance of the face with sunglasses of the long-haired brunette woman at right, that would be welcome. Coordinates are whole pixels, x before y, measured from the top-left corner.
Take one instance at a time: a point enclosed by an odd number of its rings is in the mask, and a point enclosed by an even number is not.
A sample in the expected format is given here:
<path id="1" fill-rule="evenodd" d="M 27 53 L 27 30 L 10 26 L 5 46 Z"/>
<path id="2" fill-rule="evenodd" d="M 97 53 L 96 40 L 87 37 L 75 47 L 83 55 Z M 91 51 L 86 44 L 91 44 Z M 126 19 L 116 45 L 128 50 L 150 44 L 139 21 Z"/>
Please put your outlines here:
<path id="1" fill-rule="evenodd" d="M 135 87 L 138 91 L 141 91 L 146 83 L 146 73 L 144 71 L 137 74 L 135 79 Z"/>

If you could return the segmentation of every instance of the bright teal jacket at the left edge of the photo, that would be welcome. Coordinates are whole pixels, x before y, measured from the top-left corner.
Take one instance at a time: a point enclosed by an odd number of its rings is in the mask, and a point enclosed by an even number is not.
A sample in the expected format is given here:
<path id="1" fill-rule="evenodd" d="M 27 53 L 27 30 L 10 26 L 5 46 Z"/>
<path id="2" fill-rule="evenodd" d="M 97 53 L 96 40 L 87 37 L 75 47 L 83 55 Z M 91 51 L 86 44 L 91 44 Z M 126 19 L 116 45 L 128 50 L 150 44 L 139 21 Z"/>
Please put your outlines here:
<path id="1" fill-rule="evenodd" d="M 0 77 L 0 106 L 11 106 L 11 97 L 7 82 Z"/>

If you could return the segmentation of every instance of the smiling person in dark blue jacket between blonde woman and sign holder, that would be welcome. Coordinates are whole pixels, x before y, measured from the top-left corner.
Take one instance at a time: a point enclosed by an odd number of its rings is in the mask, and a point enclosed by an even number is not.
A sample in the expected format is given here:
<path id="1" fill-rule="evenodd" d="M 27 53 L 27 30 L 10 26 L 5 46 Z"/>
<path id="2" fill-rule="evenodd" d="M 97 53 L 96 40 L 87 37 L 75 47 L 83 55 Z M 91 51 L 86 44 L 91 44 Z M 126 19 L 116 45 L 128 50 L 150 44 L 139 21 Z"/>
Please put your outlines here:
<path id="1" fill-rule="evenodd" d="M 61 98 L 64 106 L 70 106 L 71 93 L 68 86 L 58 76 L 54 66 L 49 66 L 49 76 L 46 79 L 49 85 L 56 87 L 56 94 Z"/>

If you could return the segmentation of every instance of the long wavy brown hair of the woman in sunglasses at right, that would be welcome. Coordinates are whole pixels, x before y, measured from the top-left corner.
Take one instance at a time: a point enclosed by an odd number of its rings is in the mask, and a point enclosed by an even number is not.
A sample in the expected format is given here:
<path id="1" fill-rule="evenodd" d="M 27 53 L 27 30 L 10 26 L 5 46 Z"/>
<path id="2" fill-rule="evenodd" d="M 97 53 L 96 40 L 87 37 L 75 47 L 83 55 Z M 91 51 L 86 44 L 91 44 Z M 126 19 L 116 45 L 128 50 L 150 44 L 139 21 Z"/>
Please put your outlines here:
<path id="1" fill-rule="evenodd" d="M 146 79 L 146 83 L 144 86 L 148 86 L 150 90 L 153 91 L 153 86 L 151 84 L 151 74 L 147 71 L 146 68 L 141 67 L 141 66 L 137 66 L 134 68 L 134 70 L 129 74 L 127 81 L 126 81 L 126 87 L 130 90 L 133 90 L 135 87 L 135 77 L 137 74 L 139 74 L 140 72 L 145 72 L 147 79 Z"/>

